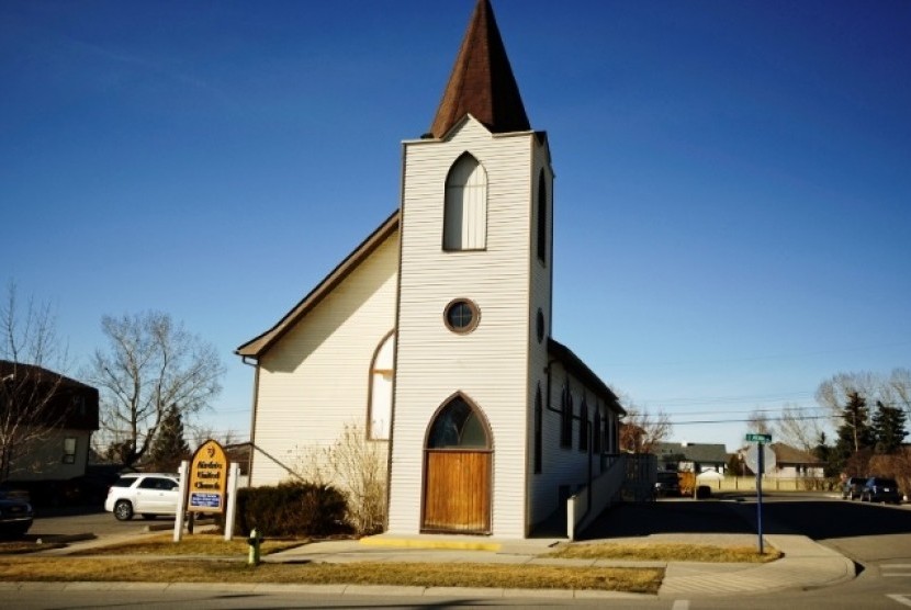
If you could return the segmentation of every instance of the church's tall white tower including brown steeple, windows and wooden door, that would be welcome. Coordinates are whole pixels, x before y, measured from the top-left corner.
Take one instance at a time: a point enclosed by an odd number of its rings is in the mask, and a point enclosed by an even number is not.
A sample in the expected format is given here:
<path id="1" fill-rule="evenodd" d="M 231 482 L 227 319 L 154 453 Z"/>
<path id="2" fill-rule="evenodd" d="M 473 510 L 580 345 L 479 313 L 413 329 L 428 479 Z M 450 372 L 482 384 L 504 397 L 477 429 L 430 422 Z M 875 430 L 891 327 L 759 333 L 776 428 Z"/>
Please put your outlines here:
<path id="1" fill-rule="evenodd" d="M 430 132 L 403 147 L 387 530 L 525 538 L 553 171 L 488 0 Z"/>

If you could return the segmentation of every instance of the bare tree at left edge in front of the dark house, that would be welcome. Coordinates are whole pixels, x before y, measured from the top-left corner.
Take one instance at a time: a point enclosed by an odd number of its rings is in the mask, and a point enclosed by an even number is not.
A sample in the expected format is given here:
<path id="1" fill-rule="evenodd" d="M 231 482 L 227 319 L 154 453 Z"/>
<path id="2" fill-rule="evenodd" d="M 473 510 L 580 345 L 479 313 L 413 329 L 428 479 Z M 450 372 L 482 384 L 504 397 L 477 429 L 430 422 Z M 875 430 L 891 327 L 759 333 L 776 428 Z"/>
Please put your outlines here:
<path id="1" fill-rule="evenodd" d="M 19 303 L 10 283 L 0 305 L 0 482 L 18 471 L 40 468 L 21 459 L 46 441 L 66 416 L 59 408 L 67 368 L 66 348 L 47 303 Z M 52 370 L 53 369 L 53 370 Z"/>

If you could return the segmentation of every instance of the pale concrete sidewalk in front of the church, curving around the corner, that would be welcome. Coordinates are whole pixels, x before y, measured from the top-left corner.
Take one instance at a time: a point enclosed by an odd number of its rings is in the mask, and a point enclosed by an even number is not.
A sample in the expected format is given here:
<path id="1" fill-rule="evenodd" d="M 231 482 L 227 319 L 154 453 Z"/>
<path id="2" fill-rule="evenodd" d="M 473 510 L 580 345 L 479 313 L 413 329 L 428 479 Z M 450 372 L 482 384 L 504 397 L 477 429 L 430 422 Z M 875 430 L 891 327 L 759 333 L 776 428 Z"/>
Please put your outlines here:
<path id="1" fill-rule="evenodd" d="M 612 539 L 621 541 L 625 539 Z M 657 533 L 634 536 L 637 542 L 697 542 L 719 545 L 756 544 L 755 534 L 746 533 Z M 262 557 L 263 563 L 477 563 L 514 565 L 566 565 L 661 567 L 665 577 L 659 598 L 699 598 L 707 596 L 760 595 L 792 588 L 818 588 L 835 585 L 854 577 L 854 564 L 846 557 L 802 535 L 775 534 L 764 540 L 784 553 L 784 557 L 767 564 L 717 564 L 693 562 L 637 562 L 614 560 L 558 560 L 543 555 L 553 550 L 561 539 L 496 540 L 476 536 L 380 534 L 357 540 L 337 540 L 306 544 Z M 68 555 L 88 546 L 103 546 L 113 540 L 101 539 L 78 542 L 66 549 L 48 550 L 44 555 Z M 198 557 L 204 560 L 204 557 Z M 0 590 L 67 588 L 123 589 L 212 589 L 288 591 L 331 595 L 387 595 L 439 597 L 470 596 L 473 598 L 548 597 L 577 599 L 622 599 L 651 597 L 643 594 L 571 589 L 499 589 L 456 587 L 396 587 L 367 585 L 239 585 L 239 584 L 180 584 L 180 583 L 0 583 Z"/>

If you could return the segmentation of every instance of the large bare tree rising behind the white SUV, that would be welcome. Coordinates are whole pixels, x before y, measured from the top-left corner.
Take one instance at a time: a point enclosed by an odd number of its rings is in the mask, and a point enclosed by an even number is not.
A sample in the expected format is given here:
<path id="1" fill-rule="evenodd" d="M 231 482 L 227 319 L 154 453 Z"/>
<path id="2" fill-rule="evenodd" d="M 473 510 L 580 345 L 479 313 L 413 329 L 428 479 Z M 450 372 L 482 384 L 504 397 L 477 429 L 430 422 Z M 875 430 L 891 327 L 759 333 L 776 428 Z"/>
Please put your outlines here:
<path id="1" fill-rule="evenodd" d="M 183 418 L 222 391 L 224 365 L 214 347 L 160 312 L 104 316 L 108 351 L 95 350 L 89 377 L 101 392 L 101 428 L 109 454 L 139 462 L 173 405 Z"/>

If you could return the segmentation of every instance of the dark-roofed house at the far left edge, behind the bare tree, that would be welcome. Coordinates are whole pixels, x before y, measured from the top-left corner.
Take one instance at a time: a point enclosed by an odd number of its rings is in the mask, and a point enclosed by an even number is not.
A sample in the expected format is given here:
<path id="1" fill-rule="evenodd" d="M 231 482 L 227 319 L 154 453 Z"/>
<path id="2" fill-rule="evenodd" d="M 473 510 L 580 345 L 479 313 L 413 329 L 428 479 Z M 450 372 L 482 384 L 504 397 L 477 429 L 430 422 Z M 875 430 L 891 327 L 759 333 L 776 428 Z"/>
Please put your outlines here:
<path id="1" fill-rule="evenodd" d="M 98 389 L 41 366 L 0 360 L 0 481 L 49 483 L 86 474 L 98 430 Z"/>

